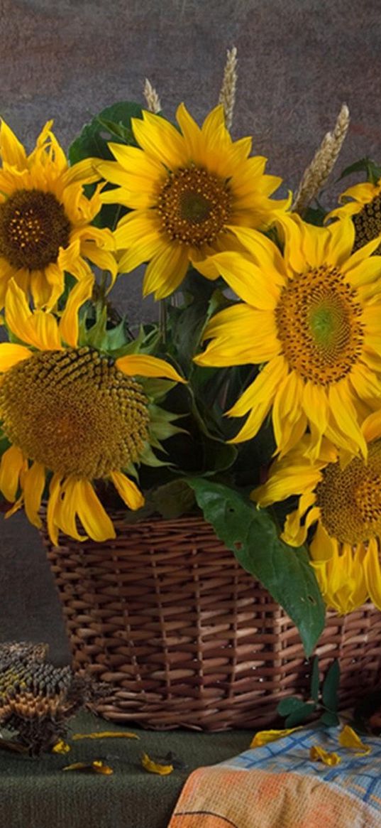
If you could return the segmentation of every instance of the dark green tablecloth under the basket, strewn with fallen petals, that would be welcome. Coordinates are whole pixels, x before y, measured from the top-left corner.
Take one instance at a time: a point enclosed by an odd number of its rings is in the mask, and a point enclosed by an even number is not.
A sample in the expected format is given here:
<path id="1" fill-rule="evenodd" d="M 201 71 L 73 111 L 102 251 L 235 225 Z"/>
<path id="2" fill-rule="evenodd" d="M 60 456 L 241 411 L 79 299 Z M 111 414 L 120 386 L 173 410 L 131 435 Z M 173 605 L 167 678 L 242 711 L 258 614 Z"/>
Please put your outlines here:
<path id="1" fill-rule="evenodd" d="M 120 727 L 90 714 L 78 715 L 70 733 L 129 730 L 137 739 L 85 739 L 70 753 L 29 759 L 0 750 L 0 826 L 4 828 L 166 828 L 183 783 L 194 768 L 222 762 L 245 750 L 250 730 L 207 734 Z M 70 739 L 69 739 L 70 741 Z M 186 768 L 169 776 L 147 773 L 141 753 L 176 754 Z M 104 758 L 112 776 L 63 773 L 74 762 Z"/>

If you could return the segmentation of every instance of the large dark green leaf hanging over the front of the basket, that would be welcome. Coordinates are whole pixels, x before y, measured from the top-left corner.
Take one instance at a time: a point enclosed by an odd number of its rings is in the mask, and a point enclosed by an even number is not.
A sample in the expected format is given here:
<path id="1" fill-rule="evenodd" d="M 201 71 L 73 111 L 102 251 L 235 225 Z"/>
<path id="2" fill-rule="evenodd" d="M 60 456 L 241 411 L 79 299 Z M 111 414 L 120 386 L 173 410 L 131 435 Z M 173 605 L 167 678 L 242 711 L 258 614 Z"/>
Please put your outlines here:
<path id="1" fill-rule="evenodd" d="M 325 609 L 307 551 L 281 541 L 269 513 L 233 489 L 202 478 L 190 478 L 188 484 L 217 537 L 283 606 L 310 655 L 324 627 Z"/>

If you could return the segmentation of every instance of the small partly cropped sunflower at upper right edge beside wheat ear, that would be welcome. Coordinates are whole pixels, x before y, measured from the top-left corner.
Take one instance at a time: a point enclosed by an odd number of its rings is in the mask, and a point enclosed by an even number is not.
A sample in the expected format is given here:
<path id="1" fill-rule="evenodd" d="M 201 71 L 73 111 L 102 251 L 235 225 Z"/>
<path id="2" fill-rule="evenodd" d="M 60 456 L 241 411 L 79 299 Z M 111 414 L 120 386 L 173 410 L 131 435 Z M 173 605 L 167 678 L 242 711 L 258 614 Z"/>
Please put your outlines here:
<path id="1" fill-rule="evenodd" d="M 381 178 L 377 183 L 364 181 L 342 193 L 341 207 L 331 210 L 328 219 L 350 216 L 355 225 L 354 250 L 358 250 L 373 238 L 379 238 L 377 253 L 381 253 Z"/>

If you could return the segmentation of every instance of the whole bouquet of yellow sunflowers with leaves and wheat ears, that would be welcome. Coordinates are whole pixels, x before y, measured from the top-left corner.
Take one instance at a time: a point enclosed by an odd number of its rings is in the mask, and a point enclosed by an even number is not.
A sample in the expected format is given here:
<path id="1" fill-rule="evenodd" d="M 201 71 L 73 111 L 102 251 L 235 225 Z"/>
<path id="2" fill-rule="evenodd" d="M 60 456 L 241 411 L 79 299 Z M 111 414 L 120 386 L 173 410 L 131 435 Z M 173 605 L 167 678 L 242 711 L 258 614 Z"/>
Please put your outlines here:
<path id="1" fill-rule="evenodd" d="M 147 82 L 69 158 L 51 122 L 29 155 L 2 122 L 0 491 L 36 527 L 46 502 L 55 545 L 114 537 L 114 503 L 203 513 L 311 652 L 324 604 L 381 609 L 381 170 L 317 200 L 344 106 L 277 198 L 235 85 L 232 50 L 200 128 Z M 143 264 L 136 328 L 112 290 Z"/>

